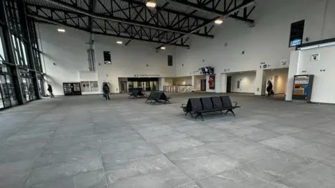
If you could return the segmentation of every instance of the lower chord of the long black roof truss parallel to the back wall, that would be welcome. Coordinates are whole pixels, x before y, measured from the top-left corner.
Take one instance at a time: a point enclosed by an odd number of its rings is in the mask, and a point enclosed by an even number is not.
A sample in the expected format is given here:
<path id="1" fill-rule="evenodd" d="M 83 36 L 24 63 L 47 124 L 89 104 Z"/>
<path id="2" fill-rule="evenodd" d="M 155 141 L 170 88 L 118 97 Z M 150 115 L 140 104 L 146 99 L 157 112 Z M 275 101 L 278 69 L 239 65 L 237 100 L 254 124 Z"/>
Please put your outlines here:
<path id="1" fill-rule="evenodd" d="M 34 19 L 41 20 L 43 22 L 47 22 L 47 23 L 50 23 L 50 24 L 56 24 L 56 25 L 60 25 L 60 26 L 66 26 L 66 27 L 70 27 L 70 28 L 80 29 L 82 31 L 86 31 L 86 32 L 90 33 L 89 28 L 87 28 L 87 29 L 79 28 L 77 26 L 66 24 L 64 22 L 55 21 L 55 20 L 52 20 L 52 19 L 47 18 L 47 17 L 40 17 L 38 15 L 33 15 L 33 14 L 27 14 L 27 16 L 33 17 Z M 158 44 L 162 44 L 162 42 L 159 42 L 157 40 L 149 40 L 149 39 L 147 40 L 147 39 L 143 39 L 143 38 L 135 38 L 134 36 L 121 36 L 121 35 L 118 35 L 118 34 L 101 33 L 101 32 L 97 32 L 97 31 L 92 31 L 91 33 L 94 33 L 94 34 L 97 34 L 97 35 L 103 35 L 103 36 L 113 36 L 113 37 L 117 37 L 117 38 L 127 38 L 127 39 L 131 39 L 131 40 L 140 40 L 140 41 L 145 41 L 145 42 L 155 42 L 155 43 L 158 43 Z M 186 48 L 190 47 L 189 45 L 182 45 L 182 44 L 173 44 L 173 45 L 177 46 L 177 47 L 186 47 Z"/>

